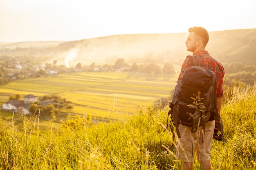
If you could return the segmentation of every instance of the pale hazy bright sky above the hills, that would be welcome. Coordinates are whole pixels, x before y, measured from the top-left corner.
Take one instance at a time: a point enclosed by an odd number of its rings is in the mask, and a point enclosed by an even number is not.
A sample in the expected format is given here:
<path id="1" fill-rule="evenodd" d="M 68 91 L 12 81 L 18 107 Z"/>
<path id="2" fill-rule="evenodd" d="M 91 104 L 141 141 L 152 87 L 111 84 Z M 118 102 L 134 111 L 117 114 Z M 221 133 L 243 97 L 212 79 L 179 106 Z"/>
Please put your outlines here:
<path id="1" fill-rule="evenodd" d="M 0 42 L 256 28 L 256 0 L 0 0 Z"/>

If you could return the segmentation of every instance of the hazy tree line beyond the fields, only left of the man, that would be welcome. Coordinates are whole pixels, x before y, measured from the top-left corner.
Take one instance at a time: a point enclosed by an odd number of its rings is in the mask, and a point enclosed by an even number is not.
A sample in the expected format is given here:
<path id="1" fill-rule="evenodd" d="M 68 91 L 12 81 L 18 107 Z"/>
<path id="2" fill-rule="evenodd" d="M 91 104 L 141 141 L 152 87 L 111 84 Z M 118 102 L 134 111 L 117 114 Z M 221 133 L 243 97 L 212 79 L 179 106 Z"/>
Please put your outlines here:
<path id="1" fill-rule="evenodd" d="M 174 66 L 166 62 L 164 66 L 157 64 L 137 64 L 133 63 L 131 66 L 125 62 L 123 58 L 117 59 L 115 64 L 84 65 L 79 62 L 74 67 L 67 68 L 65 65 L 57 65 L 58 61 L 54 60 L 52 63 L 39 63 L 34 60 L 21 60 L 20 57 L 13 57 L 9 60 L 0 62 L 0 85 L 7 84 L 18 79 L 26 79 L 29 77 L 42 77 L 50 74 L 62 74 L 71 72 L 107 72 L 107 71 L 130 71 L 139 73 L 148 73 L 154 75 L 173 74 L 175 73 Z M 17 68 L 20 66 L 20 68 Z"/>

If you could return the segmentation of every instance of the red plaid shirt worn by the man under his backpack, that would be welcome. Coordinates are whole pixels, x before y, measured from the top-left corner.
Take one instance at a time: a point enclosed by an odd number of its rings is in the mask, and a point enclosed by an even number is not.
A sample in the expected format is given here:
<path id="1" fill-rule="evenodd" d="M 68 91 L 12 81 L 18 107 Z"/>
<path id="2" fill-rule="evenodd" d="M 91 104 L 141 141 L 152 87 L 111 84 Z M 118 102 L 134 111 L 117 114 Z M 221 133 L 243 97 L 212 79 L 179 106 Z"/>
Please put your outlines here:
<path id="1" fill-rule="evenodd" d="M 214 57 L 212 57 L 208 51 L 201 50 L 193 54 L 198 55 L 198 65 L 206 68 L 211 68 L 213 72 L 216 75 L 216 84 L 217 84 L 217 97 L 221 98 L 223 96 L 223 77 L 225 75 L 225 70 L 222 64 L 216 60 Z M 181 73 L 179 76 L 179 79 L 183 73 L 183 70 L 185 68 L 188 68 L 191 66 L 191 61 L 189 60 L 189 57 L 186 58 L 186 60 L 182 64 Z"/>

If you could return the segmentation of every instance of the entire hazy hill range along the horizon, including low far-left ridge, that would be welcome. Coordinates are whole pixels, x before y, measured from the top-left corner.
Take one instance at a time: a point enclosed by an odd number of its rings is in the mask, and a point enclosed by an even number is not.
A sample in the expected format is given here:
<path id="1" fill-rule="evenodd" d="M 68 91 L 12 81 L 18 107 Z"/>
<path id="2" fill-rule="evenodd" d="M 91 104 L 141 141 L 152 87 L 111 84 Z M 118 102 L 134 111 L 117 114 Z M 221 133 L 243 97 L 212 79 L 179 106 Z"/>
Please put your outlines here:
<path id="1" fill-rule="evenodd" d="M 255 65 L 256 29 L 239 29 L 209 32 L 207 50 L 223 63 L 240 62 Z M 70 65 L 114 64 L 118 58 L 128 63 L 172 62 L 181 64 L 186 55 L 184 42 L 188 33 L 112 35 L 69 42 L 26 42 L 19 52 L 14 53 L 14 43 L 0 43 L 0 56 L 33 55 L 46 56 L 45 62 L 58 60 L 58 64 L 69 61 Z M 38 45 L 43 43 L 43 47 Z M 18 44 L 21 44 L 18 43 Z M 29 48 L 26 47 L 29 44 Z M 47 45 L 48 44 L 48 45 Z M 3 48 L 4 47 L 4 48 Z M 35 49 L 36 48 L 36 49 Z M 243 60 L 241 60 L 243 58 Z"/>

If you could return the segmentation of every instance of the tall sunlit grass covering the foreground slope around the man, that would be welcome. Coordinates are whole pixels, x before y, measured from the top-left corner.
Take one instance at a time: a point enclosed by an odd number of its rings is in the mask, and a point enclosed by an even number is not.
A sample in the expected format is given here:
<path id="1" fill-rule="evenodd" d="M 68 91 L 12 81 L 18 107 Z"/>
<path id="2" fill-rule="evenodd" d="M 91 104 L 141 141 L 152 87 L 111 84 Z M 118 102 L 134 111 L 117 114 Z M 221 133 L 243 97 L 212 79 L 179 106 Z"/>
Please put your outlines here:
<path id="1" fill-rule="evenodd" d="M 222 107 L 227 142 L 213 141 L 212 169 L 255 170 L 256 87 L 227 91 Z M 99 124 L 89 124 L 87 115 L 68 117 L 61 127 L 52 115 L 47 129 L 39 125 L 40 114 L 13 113 L 11 121 L 2 120 L 0 169 L 180 170 L 171 133 L 163 131 L 169 108 L 138 109 L 129 119 Z"/>

